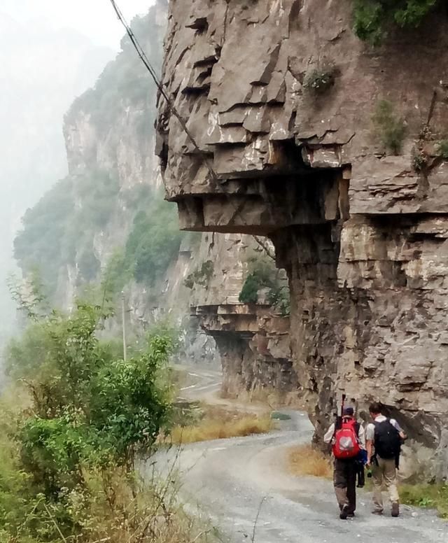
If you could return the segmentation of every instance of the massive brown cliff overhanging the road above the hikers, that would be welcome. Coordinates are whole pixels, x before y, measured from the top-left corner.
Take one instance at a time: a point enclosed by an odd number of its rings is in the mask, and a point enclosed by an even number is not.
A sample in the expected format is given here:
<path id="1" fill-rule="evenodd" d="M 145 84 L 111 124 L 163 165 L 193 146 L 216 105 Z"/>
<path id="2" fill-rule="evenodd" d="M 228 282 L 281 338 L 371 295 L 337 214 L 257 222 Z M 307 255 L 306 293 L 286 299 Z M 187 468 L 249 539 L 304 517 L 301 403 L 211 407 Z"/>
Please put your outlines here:
<path id="1" fill-rule="evenodd" d="M 183 227 L 274 242 L 318 432 L 337 393 L 380 399 L 446 472 L 448 20 L 372 50 L 352 5 L 172 0 L 164 85 L 199 151 L 161 98 L 158 153 Z M 381 100 L 404 120 L 396 155 L 372 125 Z"/>

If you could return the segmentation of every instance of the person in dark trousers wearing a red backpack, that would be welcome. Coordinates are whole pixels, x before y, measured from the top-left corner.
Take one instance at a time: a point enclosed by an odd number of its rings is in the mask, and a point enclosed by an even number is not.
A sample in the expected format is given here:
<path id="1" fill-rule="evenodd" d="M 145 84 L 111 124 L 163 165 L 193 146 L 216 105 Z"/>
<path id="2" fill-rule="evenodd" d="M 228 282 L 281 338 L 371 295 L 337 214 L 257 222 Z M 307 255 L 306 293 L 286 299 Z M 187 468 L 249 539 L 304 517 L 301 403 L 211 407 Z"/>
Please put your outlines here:
<path id="1" fill-rule="evenodd" d="M 325 443 L 332 444 L 335 457 L 333 484 L 339 504 L 339 519 L 342 520 L 355 516 L 356 474 L 360 453 L 365 449 L 363 425 L 356 422 L 353 414 L 353 407 L 342 406 L 342 414 L 323 437 Z"/>

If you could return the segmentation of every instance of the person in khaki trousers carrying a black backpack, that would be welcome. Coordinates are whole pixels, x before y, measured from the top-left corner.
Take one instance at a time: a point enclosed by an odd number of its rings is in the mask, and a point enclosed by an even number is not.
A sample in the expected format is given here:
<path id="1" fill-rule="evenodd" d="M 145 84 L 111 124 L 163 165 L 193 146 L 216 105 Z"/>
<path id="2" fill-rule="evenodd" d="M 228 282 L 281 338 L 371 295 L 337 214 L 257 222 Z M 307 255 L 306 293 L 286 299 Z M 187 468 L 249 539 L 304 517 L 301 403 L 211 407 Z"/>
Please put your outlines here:
<path id="1" fill-rule="evenodd" d="M 391 500 L 392 516 L 398 516 L 400 514 L 400 498 L 397 489 L 397 469 L 402 440 L 406 439 L 406 435 L 394 418 L 387 418 L 381 414 L 381 404 L 378 402 L 370 405 L 369 412 L 373 423 L 367 425 L 365 437 L 367 466 L 372 469 L 374 486 L 372 513 L 383 513 L 381 489 L 385 484 Z"/>

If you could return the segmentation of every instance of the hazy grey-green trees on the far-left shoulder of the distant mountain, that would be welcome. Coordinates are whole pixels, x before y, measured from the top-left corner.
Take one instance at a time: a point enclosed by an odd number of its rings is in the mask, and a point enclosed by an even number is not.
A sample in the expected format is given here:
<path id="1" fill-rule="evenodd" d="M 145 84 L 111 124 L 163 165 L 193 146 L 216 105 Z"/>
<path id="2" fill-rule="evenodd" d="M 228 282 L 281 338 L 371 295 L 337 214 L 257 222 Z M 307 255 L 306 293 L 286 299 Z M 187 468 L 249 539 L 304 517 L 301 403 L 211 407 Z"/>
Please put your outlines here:
<path id="1" fill-rule="evenodd" d="M 41 271 L 50 291 L 64 265 L 78 264 L 81 278 L 99 273 L 93 237 L 108 222 L 118 197 L 118 181 L 105 171 L 59 181 L 22 218 L 23 229 L 14 241 L 14 256 L 29 272 Z"/>

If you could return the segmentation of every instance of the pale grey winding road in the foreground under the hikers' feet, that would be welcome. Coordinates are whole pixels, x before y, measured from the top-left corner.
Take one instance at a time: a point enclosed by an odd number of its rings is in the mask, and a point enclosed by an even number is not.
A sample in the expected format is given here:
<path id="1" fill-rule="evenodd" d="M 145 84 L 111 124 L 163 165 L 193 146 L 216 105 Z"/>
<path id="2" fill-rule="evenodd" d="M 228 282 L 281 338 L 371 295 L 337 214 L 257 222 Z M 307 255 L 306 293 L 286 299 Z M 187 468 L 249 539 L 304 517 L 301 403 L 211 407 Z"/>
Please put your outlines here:
<path id="1" fill-rule="evenodd" d="M 205 386 L 199 381 L 197 390 Z M 286 451 L 309 443 L 312 427 L 304 414 L 284 412 L 290 421 L 269 435 L 193 444 L 180 454 L 183 500 L 208 515 L 224 541 L 251 542 L 255 525 L 257 543 L 448 542 L 448 523 L 433 512 L 402 506 L 399 519 L 374 516 L 367 493 L 358 496 L 355 519 L 339 520 L 330 481 L 286 473 Z"/>

